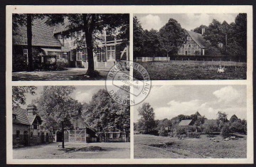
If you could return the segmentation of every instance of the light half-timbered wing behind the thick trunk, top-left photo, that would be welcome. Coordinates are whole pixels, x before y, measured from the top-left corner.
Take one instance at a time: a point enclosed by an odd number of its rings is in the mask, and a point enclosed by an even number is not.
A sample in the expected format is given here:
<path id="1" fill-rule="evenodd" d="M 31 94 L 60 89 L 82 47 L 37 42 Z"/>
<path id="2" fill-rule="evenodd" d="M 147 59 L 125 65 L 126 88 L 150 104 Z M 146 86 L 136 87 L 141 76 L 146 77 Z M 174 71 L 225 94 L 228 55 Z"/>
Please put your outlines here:
<path id="1" fill-rule="evenodd" d="M 87 49 L 77 49 L 75 42 L 84 39 L 85 33 L 78 29 L 73 33 L 73 36 L 63 36 L 67 33 L 68 29 L 65 28 L 65 25 L 58 26 L 54 31 L 54 36 L 62 45 L 60 57 L 68 60 L 70 68 L 87 68 Z M 115 35 L 107 36 L 105 31 L 103 34 L 97 34 L 97 36 L 97 49 L 93 53 L 95 68 L 112 68 L 121 60 L 129 60 L 129 46 L 124 45 L 122 39 Z"/>

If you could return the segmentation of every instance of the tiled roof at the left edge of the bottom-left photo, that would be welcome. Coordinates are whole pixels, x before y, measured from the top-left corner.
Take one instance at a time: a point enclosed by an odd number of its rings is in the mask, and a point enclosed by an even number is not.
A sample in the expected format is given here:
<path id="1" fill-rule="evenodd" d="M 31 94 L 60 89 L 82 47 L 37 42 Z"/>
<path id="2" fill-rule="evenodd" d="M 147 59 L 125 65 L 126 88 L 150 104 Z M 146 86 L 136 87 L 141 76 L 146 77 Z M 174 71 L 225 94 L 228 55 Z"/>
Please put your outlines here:
<path id="1" fill-rule="evenodd" d="M 28 117 L 26 115 L 26 109 L 21 109 L 21 107 L 15 107 L 13 109 L 13 114 L 16 114 L 16 119 L 13 119 L 13 124 L 26 124 L 30 125 Z"/>

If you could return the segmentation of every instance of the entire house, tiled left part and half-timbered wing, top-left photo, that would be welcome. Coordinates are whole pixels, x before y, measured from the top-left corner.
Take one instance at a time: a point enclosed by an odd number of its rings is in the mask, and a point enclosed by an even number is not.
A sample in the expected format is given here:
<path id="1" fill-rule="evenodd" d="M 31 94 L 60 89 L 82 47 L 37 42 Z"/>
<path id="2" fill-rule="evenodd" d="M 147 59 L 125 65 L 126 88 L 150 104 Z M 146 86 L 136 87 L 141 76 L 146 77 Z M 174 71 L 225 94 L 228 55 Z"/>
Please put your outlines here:
<path id="1" fill-rule="evenodd" d="M 46 19 L 35 19 L 32 26 L 32 52 L 35 69 L 49 68 L 60 60 L 68 61 L 69 68 L 87 68 L 86 47 L 78 50 L 75 41 L 80 40 L 85 33 L 78 29 L 72 36 L 64 25 L 47 26 Z M 129 46 L 122 43 L 116 36 L 103 33 L 97 41 L 98 48 L 94 50 L 95 68 L 112 68 L 120 60 L 129 60 Z M 84 40 L 85 42 L 85 40 Z M 14 71 L 26 69 L 28 65 L 26 26 L 19 26 L 13 34 L 13 68 Z"/>

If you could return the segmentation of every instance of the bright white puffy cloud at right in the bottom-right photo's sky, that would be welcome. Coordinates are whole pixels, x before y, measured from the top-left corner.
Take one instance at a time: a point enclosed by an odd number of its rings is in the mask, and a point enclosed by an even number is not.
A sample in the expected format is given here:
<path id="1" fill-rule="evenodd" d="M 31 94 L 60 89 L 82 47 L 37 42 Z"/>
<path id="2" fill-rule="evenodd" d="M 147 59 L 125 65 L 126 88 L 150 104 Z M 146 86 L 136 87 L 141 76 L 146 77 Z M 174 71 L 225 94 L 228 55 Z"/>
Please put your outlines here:
<path id="1" fill-rule="evenodd" d="M 213 92 L 213 95 L 218 98 L 218 102 L 234 102 L 240 99 L 240 93 L 232 86 L 223 87 L 220 90 Z"/>

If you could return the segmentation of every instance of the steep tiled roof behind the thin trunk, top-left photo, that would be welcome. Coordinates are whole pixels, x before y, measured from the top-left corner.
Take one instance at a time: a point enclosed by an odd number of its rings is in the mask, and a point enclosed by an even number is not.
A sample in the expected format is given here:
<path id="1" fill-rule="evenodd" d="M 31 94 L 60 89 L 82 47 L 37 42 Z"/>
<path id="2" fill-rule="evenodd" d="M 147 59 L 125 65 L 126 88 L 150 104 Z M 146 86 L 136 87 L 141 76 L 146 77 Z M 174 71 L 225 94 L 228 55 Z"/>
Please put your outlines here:
<path id="1" fill-rule="evenodd" d="M 32 25 L 32 45 L 61 47 L 60 41 L 53 36 L 53 27 L 46 25 L 46 19 L 35 19 Z M 13 45 L 27 45 L 26 25 L 18 26 L 13 35 Z"/>

